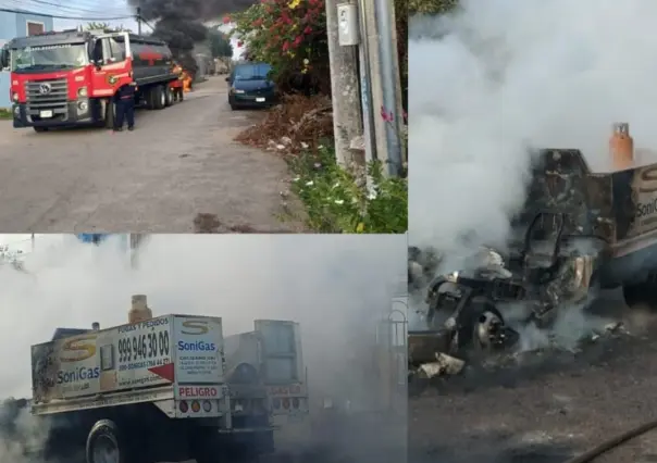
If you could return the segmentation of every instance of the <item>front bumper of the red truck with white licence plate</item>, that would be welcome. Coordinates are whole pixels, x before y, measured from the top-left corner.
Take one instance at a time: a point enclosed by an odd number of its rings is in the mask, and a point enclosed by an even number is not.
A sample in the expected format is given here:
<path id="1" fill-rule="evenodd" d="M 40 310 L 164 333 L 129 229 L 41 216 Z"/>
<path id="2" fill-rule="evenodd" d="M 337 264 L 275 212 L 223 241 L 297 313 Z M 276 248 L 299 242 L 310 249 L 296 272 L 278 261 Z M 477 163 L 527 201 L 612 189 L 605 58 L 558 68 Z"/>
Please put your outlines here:
<path id="1" fill-rule="evenodd" d="M 98 107 L 90 100 L 67 101 L 65 105 L 52 109 L 34 109 L 18 103 L 12 107 L 12 112 L 15 128 L 66 127 L 99 120 Z"/>

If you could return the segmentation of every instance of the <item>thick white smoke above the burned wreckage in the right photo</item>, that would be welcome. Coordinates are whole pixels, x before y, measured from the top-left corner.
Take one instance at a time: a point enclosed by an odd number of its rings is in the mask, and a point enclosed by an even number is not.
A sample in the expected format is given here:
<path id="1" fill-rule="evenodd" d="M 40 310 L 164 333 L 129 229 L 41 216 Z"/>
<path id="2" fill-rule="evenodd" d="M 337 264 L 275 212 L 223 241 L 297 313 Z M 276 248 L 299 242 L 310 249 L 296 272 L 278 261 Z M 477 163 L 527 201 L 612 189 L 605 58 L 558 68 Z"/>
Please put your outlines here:
<path id="1" fill-rule="evenodd" d="M 611 124 L 657 147 L 657 3 L 463 0 L 411 27 L 410 234 L 443 250 L 501 241 L 524 199 L 526 147 L 579 148 L 607 167 Z"/>

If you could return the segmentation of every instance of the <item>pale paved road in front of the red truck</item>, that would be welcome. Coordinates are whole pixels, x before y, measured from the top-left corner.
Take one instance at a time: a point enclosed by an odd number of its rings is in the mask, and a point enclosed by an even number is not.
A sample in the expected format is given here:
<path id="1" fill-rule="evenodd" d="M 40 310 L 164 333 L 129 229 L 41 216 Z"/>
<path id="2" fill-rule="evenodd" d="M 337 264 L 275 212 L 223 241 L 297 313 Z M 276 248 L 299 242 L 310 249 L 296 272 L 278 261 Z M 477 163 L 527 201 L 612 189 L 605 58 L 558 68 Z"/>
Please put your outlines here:
<path id="1" fill-rule="evenodd" d="M 0 121 L 0 229 L 193 232 L 197 214 L 259 232 L 282 224 L 284 161 L 235 143 L 261 117 L 233 112 L 214 77 L 181 104 L 139 111 L 134 133 L 72 129 L 36 134 Z"/>

